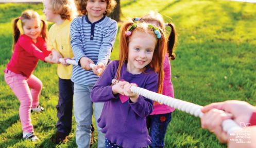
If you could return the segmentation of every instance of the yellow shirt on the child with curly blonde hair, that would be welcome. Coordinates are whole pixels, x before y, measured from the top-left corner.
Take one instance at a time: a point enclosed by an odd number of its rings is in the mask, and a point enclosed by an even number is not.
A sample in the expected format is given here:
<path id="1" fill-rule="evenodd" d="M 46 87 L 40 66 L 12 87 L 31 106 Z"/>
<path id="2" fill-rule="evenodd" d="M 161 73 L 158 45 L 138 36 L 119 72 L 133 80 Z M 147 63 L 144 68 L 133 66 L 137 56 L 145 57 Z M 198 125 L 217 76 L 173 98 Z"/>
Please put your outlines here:
<path id="1" fill-rule="evenodd" d="M 74 54 L 70 45 L 70 20 L 65 20 L 61 25 L 54 24 L 49 29 L 47 49 L 56 49 L 62 57 L 73 58 Z M 58 64 L 58 76 L 62 79 L 71 79 L 72 65 Z"/>

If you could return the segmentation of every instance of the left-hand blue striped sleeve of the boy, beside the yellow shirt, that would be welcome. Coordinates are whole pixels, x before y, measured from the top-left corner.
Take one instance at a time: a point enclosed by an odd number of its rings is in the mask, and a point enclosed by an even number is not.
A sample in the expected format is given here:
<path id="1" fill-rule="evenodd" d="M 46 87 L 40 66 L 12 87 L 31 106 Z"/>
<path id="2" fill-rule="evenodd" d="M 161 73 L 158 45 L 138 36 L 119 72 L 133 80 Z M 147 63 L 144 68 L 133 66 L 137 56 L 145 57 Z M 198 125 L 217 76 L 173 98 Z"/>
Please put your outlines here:
<path id="1" fill-rule="evenodd" d="M 71 25 L 70 25 L 70 35 L 71 35 L 71 48 L 73 50 L 73 53 L 75 55 L 75 59 L 77 64 L 79 64 L 79 60 L 82 57 L 86 57 L 86 55 L 83 53 L 82 49 L 82 39 L 81 39 L 81 33 L 79 32 L 79 17 L 75 18 Z"/>

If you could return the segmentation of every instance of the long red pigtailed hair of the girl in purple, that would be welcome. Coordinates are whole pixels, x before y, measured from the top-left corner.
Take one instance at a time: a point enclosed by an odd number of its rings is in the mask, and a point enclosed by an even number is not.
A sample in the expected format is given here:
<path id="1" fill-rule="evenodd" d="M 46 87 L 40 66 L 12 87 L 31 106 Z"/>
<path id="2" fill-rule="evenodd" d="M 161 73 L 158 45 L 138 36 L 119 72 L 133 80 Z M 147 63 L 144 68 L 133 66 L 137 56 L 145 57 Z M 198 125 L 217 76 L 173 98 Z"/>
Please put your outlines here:
<path id="1" fill-rule="evenodd" d="M 121 29 L 120 29 L 120 62 L 117 68 L 117 73 L 115 76 L 115 79 L 120 80 L 121 77 L 121 69 L 124 64 L 124 62 L 127 62 L 128 59 L 128 44 L 130 39 L 132 38 L 132 35 L 127 36 L 125 35 L 128 28 L 133 24 L 132 20 L 129 20 L 128 22 L 125 22 Z M 151 62 L 149 63 L 149 66 L 153 69 L 153 71 L 158 73 L 158 93 L 162 93 L 163 90 L 163 79 L 164 79 L 164 71 L 163 71 L 163 61 L 164 56 L 166 53 L 166 40 L 163 35 L 163 31 L 160 29 L 160 33 L 162 34 L 162 37 L 160 39 L 157 38 L 157 35 L 154 31 L 152 31 L 148 24 L 144 22 L 140 22 L 136 24 L 136 28 L 133 29 L 131 32 L 138 31 L 141 33 L 148 33 L 156 37 L 157 44 L 155 47 L 155 51 L 153 53 L 153 57 Z"/>

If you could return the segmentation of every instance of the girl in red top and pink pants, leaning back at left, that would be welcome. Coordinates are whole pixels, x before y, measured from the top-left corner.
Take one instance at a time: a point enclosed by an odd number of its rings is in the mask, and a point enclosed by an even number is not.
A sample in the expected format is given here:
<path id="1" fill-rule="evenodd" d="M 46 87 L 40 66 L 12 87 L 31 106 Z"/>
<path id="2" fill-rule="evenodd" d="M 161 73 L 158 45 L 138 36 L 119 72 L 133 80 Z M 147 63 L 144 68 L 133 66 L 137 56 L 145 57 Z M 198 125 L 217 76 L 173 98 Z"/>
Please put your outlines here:
<path id="1" fill-rule="evenodd" d="M 19 20 L 24 32 L 22 35 L 18 28 Z M 13 30 L 14 50 L 4 71 L 5 81 L 21 102 L 19 114 L 23 138 L 36 141 L 38 138 L 33 134 L 30 112 L 43 110 L 39 106 L 42 82 L 32 73 L 37 67 L 38 59 L 53 62 L 45 43 L 47 26 L 37 12 L 26 10 L 20 17 L 14 19 Z"/>

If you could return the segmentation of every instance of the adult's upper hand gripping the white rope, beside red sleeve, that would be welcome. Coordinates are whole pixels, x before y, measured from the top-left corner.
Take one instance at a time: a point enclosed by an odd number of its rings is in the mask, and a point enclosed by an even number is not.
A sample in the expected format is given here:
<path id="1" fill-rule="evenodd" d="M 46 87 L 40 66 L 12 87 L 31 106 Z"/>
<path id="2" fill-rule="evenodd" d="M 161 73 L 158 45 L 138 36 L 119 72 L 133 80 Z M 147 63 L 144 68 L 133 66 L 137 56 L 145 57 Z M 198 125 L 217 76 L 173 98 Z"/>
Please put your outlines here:
<path id="1" fill-rule="evenodd" d="M 202 128 L 213 132 L 220 142 L 228 142 L 228 135 L 222 130 L 222 122 L 232 118 L 237 124 L 249 122 L 255 107 L 244 101 L 229 100 L 206 105 L 201 109 Z"/>

